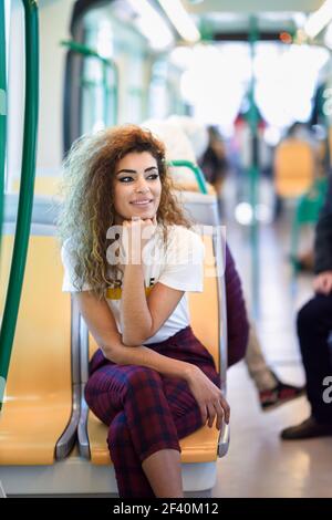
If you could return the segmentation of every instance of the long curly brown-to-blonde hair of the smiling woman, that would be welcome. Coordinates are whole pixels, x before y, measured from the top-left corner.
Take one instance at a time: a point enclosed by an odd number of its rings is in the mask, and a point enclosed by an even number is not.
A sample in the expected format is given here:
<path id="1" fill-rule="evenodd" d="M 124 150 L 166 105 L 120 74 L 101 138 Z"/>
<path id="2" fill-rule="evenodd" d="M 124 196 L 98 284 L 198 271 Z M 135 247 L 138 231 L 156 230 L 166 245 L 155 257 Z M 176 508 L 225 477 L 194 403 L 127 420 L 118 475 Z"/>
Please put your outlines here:
<path id="1" fill-rule="evenodd" d="M 107 229 L 114 223 L 113 183 L 116 164 L 132 152 L 148 152 L 157 162 L 162 183 L 157 222 L 163 226 L 167 241 L 167 226 L 189 228 L 191 222 L 183 215 L 172 194 L 174 185 L 167 170 L 165 146 L 149 131 L 136 125 L 124 125 L 80 137 L 64 160 L 62 196 L 64 201 L 58 219 L 61 242 L 74 239 L 71 251 L 77 290 L 86 282 L 103 298 L 105 289 L 116 283 L 116 269 L 106 259 Z"/>

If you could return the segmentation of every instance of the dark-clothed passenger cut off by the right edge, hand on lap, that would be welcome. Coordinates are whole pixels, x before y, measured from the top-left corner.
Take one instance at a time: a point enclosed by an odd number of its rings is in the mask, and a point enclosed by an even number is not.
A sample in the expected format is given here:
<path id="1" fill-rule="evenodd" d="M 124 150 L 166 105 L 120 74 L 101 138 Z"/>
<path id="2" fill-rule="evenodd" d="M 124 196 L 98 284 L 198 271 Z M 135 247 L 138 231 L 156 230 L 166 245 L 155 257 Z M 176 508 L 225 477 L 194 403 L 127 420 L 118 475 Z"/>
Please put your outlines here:
<path id="1" fill-rule="evenodd" d="M 315 295 L 298 314 L 298 335 L 311 415 L 281 433 L 284 440 L 332 435 L 332 175 L 315 236 Z M 331 336 L 330 336 L 331 337 Z M 330 383 L 330 389 L 328 387 Z"/>

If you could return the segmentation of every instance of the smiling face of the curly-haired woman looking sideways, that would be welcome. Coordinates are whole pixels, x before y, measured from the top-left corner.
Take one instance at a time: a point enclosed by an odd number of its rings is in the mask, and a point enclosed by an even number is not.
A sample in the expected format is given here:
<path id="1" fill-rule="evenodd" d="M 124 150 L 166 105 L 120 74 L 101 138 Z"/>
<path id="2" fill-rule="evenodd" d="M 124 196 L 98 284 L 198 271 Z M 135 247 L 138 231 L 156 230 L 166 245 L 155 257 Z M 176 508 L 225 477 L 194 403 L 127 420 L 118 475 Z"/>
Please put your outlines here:
<path id="1" fill-rule="evenodd" d="M 114 178 L 115 223 L 152 219 L 160 201 L 157 160 L 148 152 L 132 152 L 118 160 Z"/>

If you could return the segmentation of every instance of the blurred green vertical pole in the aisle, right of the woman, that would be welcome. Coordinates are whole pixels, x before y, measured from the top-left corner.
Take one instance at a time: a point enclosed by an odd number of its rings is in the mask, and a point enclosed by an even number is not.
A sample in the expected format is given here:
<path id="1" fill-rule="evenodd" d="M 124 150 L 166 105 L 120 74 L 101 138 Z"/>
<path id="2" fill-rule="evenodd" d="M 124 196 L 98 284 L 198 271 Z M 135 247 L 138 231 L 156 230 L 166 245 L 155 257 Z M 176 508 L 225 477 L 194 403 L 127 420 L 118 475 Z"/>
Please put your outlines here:
<path id="1" fill-rule="evenodd" d="M 251 165 L 249 166 L 249 199 L 252 210 L 252 220 L 250 225 L 250 245 L 251 245 L 251 305 L 253 315 L 259 313 L 259 227 L 256 215 L 258 204 L 258 110 L 255 102 L 255 44 L 259 38 L 257 18 L 250 17 L 249 44 L 251 55 L 251 82 L 249 90 L 249 126 L 251 134 Z"/>

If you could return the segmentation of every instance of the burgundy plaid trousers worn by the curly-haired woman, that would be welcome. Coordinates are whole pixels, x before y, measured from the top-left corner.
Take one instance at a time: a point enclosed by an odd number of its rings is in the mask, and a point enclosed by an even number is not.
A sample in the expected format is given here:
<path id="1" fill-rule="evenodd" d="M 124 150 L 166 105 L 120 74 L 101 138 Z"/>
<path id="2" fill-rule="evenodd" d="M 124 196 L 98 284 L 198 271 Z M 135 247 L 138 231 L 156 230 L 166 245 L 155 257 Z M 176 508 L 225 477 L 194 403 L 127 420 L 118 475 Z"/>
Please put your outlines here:
<path id="1" fill-rule="evenodd" d="M 199 366 L 220 386 L 214 358 L 190 326 L 147 347 Z M 90 362 L 85 399 L 108 426 L 107 445 L 122 498 L 154 497 L 142 462 L 160 449 L 180 451 L 178 440 L 201 426 L 199 407 L 184 379 L 144 366 L 116 365 L 101 350 Z"/>

